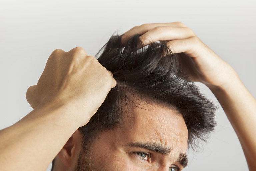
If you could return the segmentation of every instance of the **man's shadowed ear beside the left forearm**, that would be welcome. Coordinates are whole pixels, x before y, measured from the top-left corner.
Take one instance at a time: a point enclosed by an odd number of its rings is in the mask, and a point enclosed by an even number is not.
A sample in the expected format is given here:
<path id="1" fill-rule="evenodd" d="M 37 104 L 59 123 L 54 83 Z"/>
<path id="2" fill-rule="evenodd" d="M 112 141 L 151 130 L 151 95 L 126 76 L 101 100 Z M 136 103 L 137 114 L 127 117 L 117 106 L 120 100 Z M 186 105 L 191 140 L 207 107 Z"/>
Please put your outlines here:
<path id="1" fill-rule="evenodd" d="M 82 147 L 81 140 L 82 135 L 77 129 L 58 153 L 57 156 L 66 167 L 76 165 Z"/>

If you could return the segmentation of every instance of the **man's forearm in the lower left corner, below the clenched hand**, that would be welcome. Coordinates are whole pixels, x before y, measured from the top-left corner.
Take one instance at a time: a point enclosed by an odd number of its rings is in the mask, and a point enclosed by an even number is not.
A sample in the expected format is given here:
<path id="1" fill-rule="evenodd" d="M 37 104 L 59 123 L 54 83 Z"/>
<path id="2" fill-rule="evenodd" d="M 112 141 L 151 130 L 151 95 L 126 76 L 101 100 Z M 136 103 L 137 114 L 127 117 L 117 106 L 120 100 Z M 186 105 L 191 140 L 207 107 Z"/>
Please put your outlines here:
<path id="1" fill-rule="evenodd" d="M 0 131 L 0 170 L 46 170 L 79 123 L 65 106 L 39 106 Z"/>

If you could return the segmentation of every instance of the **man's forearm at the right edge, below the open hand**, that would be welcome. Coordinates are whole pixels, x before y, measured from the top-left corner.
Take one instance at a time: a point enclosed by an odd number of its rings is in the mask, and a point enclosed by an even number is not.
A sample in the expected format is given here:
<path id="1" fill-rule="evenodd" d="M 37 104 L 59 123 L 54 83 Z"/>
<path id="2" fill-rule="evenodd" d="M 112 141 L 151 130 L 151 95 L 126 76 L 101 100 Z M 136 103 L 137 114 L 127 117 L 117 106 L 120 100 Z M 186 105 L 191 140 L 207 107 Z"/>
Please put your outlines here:
<path id="1" fill-rule="evenodd" d="M 249 170 L 255 170 L 256 100 L 238 77 L 225 87 L 210 89 L 220 102 L 239 138 Z"/>

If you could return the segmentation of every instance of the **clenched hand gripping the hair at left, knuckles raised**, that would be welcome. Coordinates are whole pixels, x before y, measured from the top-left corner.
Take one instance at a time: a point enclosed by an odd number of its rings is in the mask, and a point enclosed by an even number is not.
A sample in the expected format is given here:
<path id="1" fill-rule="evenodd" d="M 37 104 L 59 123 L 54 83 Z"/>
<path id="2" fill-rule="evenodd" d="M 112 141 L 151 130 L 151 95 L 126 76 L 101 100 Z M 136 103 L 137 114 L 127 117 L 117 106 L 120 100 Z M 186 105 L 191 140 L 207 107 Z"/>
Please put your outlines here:
<path id="1" fill-rule="evenodd" d="M 116 86 L 112 76 L 81 47 L 68 52 L 56 49 L 37 85 L 28 88 L 26 98 L 33 109 L 40 105 L 68 105 L 76 111 L 80 126 L 83 126 L 96 113 L 110 89 Z"/>

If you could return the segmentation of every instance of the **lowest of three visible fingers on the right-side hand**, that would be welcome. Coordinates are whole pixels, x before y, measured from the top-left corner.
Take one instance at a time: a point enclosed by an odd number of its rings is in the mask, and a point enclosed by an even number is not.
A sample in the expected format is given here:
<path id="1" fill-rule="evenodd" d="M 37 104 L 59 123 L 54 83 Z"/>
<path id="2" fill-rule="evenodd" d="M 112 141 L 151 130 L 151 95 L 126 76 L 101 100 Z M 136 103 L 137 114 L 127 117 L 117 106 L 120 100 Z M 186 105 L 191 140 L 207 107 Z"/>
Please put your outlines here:
<path id="1" fill-rule="evenodd" d="M 198 49 L 201 44 L 201 40 L 198 37 L 190 37 L 188 39 L 172 40 L 166 43 L 167 47 L 171 49 L 173 53 L 182 53 L 189 55 L 190 57 L 197 57 L 194 49 Z"/>

